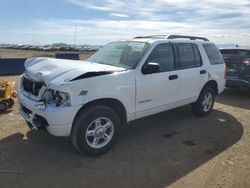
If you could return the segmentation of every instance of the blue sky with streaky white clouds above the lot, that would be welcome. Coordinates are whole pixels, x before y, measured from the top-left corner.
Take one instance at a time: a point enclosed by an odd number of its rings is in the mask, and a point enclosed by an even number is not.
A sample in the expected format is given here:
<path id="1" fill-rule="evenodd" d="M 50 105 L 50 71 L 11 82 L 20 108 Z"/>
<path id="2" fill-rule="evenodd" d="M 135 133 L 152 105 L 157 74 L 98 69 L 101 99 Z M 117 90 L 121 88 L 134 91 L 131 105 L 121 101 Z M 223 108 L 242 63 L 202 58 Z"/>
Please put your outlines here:
<path id="1" fill-rule="evenodd" d="M 0 0 L 0 43 L 103 45 L 152 34 L 250 46 L 250 0 Z"/>

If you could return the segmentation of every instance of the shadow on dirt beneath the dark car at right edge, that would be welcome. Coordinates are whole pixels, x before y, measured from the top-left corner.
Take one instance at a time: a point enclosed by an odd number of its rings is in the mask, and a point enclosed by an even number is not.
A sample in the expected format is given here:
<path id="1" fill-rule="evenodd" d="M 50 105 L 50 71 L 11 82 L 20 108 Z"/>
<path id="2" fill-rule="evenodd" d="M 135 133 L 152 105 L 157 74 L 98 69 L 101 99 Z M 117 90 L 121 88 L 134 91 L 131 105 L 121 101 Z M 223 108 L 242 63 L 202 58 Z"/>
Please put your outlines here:
<path id="1" fill-rule="evenodd" d="M 250 110 L 250 89 L 227 88 L 216 98 L 216 102 Z"/>

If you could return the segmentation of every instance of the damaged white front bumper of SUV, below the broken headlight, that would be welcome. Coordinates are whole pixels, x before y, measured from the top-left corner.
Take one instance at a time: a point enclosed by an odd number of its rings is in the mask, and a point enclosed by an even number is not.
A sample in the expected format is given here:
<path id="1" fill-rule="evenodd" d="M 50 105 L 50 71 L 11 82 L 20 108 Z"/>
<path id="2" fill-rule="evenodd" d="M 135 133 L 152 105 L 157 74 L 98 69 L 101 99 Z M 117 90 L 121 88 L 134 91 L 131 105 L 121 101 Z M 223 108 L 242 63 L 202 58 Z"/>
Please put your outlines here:
<path id="1" fill-rule="evenodd" d="M 45 128 L 54 136 L 69 136 L 75 115 L 81 106 L 56 107 L 47 105 L 45 110 L 38 110 L 37 102 L 18 94 L 20 114 L 30 123 L 31 128 Z"/>

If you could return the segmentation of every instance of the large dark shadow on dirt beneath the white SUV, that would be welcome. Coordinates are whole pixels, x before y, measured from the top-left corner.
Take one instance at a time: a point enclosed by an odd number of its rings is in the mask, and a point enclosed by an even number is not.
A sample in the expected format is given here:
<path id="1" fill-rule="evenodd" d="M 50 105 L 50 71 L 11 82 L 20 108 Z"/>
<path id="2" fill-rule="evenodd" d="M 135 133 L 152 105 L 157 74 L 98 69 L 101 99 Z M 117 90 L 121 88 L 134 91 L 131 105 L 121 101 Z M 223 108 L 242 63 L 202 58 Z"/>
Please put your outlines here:
<path id="1" fill-rule="evenodd" d="M 197 118 L 188 106 L 132 122 L 98 157 L 78 154 L 67 138 L 17 133 L 0 140 L 0 187 L 165 187 L 242 135 L 230 114 Z"/>

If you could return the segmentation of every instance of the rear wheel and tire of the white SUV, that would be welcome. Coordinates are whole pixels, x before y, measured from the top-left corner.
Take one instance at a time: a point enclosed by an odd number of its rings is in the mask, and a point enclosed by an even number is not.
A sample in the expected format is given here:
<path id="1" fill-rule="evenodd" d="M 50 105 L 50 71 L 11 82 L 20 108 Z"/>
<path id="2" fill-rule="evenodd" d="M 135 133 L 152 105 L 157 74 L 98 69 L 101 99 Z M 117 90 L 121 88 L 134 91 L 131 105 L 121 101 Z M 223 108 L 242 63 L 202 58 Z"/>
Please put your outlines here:
<path id="1" fill-rule="evenodd" d="M 207 116 L 213 109 L 214 97 L 215 94 L 213 88 L 203 88 L 198 100 L 192 105 L 194 114 L 200 117 Z"/>

